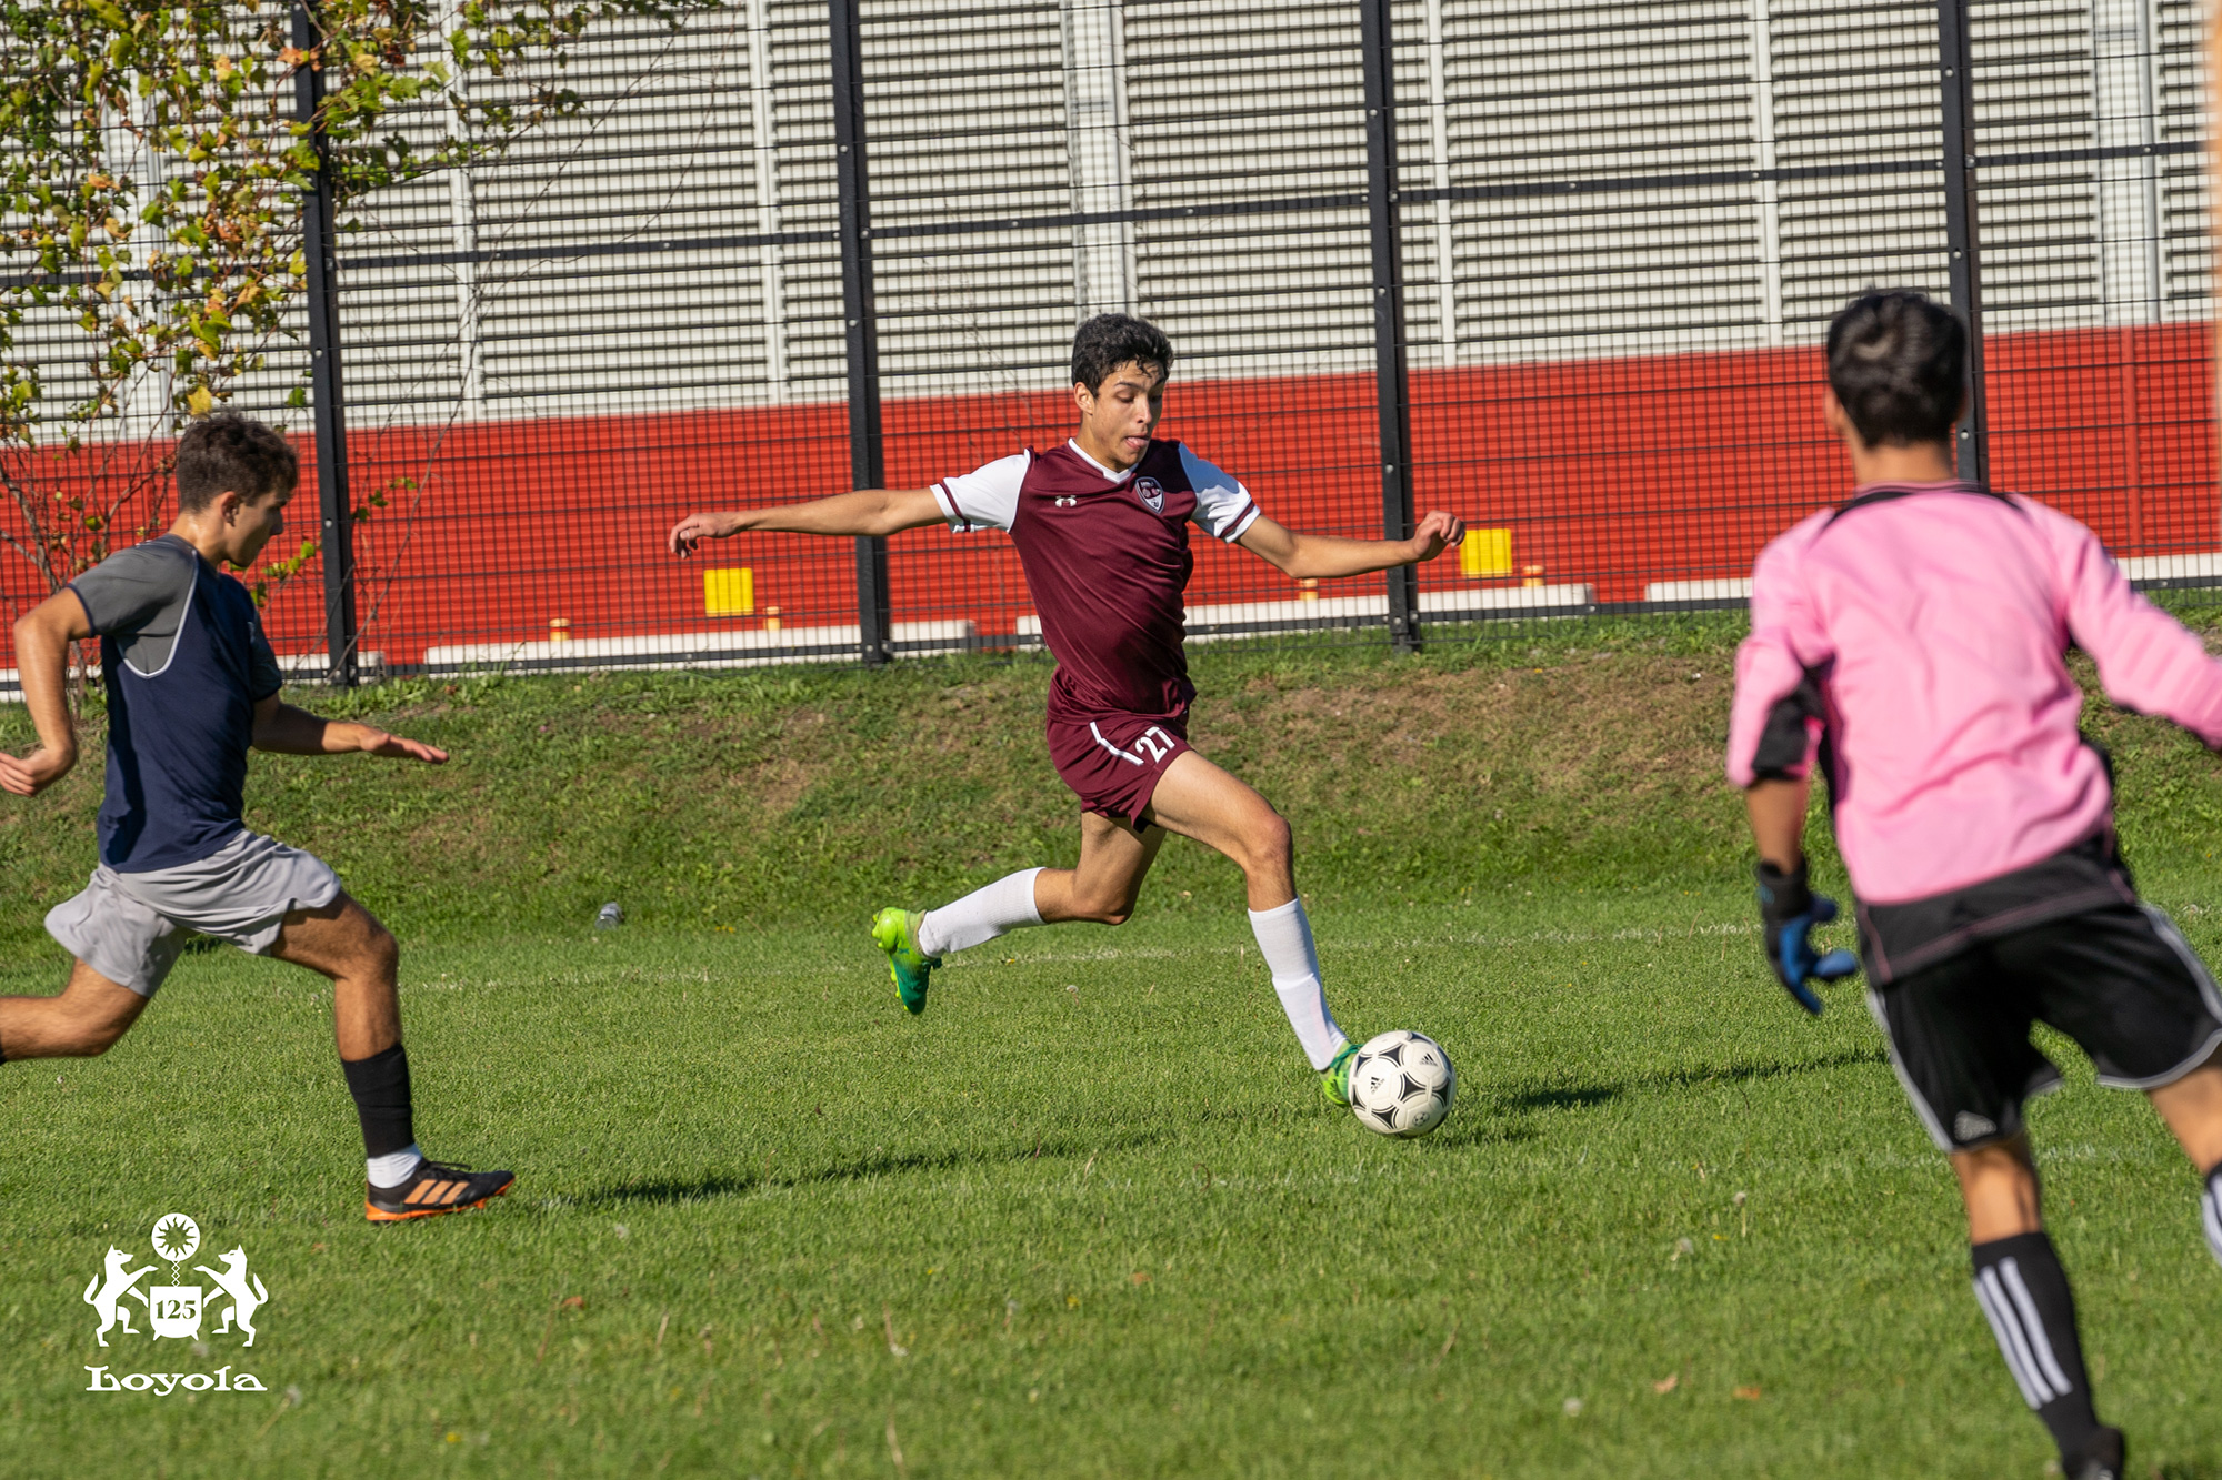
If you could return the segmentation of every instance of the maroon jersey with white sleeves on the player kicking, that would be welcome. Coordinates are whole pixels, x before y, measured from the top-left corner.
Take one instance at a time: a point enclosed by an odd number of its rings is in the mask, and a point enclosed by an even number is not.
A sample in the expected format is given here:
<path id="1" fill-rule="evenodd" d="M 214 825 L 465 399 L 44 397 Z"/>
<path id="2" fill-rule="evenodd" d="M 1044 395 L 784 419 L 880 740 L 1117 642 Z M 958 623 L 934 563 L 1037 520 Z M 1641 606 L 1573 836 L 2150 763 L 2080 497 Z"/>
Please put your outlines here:
<path id="1" fill-rule="evenodd" d="M 1178 716 L 1195 687 L 1182 651 L 1189 522 L 1233 542 L 1258 520 L 1249 491 L 1180 442 L 1151 442 L 1113 473 L 1067 442 L 1027 449 L 933 496 L 958 533 L 1009 529 L 1058 658 L 1051 713 Z"/>

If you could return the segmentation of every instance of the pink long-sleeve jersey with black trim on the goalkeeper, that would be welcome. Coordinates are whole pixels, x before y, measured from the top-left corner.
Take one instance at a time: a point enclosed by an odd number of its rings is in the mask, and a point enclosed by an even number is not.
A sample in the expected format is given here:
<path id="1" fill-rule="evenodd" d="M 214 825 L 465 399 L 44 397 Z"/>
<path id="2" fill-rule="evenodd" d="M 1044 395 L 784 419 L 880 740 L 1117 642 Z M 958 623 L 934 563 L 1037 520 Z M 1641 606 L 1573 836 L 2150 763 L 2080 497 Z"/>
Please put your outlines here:
<path id="1" fill-rule="evenodd" d="M 1806 776 L 1866 904 L 1922 900 L 2109 827 L 2075 644 L 2106 696 L 2222 747 L 2222 662 L 2089 529 L 1975 484 L 1871 484 L 1760 551 L 1729 780 Z"/>

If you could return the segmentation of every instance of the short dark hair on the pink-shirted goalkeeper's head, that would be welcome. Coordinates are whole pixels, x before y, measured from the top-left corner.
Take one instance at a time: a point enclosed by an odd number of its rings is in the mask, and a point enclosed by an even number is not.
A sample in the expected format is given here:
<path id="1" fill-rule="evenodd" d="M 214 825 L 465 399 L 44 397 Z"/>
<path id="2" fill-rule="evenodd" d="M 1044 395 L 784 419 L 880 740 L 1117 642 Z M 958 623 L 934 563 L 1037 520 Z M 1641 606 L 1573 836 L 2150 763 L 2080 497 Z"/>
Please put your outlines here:
<path id="1" fill-rule="evenodd" d="M 1911 289 L 1869 289 L 1829 324 L 1829 389 L 1869 447 L 1951 442 L 1966 324 Z"/>

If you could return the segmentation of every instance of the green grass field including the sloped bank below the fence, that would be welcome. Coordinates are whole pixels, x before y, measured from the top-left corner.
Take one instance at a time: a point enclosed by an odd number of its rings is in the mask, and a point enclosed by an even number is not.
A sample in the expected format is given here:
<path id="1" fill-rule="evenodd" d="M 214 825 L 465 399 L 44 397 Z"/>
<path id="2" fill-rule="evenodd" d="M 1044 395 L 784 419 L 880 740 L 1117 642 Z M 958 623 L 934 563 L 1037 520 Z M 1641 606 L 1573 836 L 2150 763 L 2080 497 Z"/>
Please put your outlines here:
<path id="1" fill-rule="evenodd" d="M 258 760 L 249 820 L 398 927 L 418 1129 L 518 1191 L 364 1224 L 320 982 L 187 958 L 107 1058 L 0 1067 L 0 1469 L 2040 1476 L 1858 993 L 1811 1022 L 1758 964 L 1733 636 L 1200 658 L 1200 744 L 1295 822 L 1344 1024 L 1458 1058 L 1413 1144 L 1318 1100 L 1233 869 L 1187 844 L 1133 924 L 895 1007 L 873 904 L 1071 856 L 1038 664 L 351 700 L 456 764 Z M 2213 956 L 2222 771 L 2091 722 Z M 96 791 L 0 818 L 0 991 L 60 980 L 38 916 Z M 633 922 L 587 929 L 604 898 Z M 2222 1476 L 2195 1178 L 2064 1062 L 2033 1124 L 2102 1411 L 2133 1473 Z M 96 1347 L 80 1291 L 167 1211 L 267 1282 L 244 1360 Z M 269 1391 L 82 1391 L 224 1362 Z"/>

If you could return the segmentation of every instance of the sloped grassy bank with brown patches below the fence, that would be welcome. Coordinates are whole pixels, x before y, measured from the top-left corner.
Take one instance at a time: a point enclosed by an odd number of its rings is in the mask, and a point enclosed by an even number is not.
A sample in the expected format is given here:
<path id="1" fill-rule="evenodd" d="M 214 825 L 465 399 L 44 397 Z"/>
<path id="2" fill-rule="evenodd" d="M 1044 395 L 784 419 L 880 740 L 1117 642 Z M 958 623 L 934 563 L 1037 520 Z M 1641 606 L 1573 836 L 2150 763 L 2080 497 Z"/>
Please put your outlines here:
<path id="1" fill-rule="evenodd" d="M 1295 827 L 1309 893 L 1458 898 L 1511 880 L 1733 878 L 1746 842 L 1720 773 L 1733 633 L 1380 653 L 1198 653 L 1193 738 Z M 1069 864 L 1075 804 L 1042 749 L 1044 662 L 887 673 L 411 682 L 344 700 L 449 747 L 440 769 L 258 756 L 249 824 L 333 860 L 398 927 L 640 920 L 744 927 L 933 900 Z M 316 702 L 318 696 L 304 696 Z M 2200 867 L 2222 767 L 2155 720 L 2093 707 L 2146 867 Z M 29 742 L 0 711 L 0 747 Z M 87 764 L 0 802 L 0 949 L 42 951 L 82 887 L 100 800 Z M 2209 864 L 2211 867 L 2211 864 Z M 1153 891 L 1218 907 L 1231 869 L 1167 849 Z"/>

